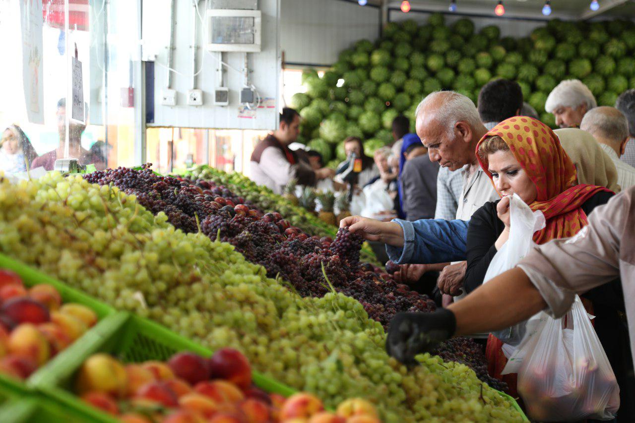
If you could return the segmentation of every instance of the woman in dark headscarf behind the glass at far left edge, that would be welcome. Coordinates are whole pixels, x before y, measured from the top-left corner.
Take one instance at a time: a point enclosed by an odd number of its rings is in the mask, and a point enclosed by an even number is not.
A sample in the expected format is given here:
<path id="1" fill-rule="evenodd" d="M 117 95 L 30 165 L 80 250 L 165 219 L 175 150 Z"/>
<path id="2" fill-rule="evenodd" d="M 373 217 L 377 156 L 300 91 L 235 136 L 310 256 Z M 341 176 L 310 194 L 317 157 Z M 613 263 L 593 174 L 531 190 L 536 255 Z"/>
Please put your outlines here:
<path id="1" fill-rule="evenodd" d="M 0 170 L 20 173 L 30 168 L 37 153 L 18 125 L 6 128 L 0 138 Z"/>

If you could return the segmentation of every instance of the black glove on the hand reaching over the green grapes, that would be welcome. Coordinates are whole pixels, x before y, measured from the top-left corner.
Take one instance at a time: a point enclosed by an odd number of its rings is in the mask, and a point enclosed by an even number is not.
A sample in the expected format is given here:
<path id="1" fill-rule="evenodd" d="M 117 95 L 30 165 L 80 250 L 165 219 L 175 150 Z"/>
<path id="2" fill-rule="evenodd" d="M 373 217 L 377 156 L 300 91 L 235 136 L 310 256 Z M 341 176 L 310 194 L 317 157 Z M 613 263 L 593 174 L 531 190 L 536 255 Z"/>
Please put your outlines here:
<path id="1" fill-rule="evenodd" d="M 417 364 L 417 354 L 430 352 L 439 342 L 450 339 L 456 327 L 454 313 L 448 309 L 431 313 L 400 312 L 391 320 L 386 352 L 401 363 Z"/>

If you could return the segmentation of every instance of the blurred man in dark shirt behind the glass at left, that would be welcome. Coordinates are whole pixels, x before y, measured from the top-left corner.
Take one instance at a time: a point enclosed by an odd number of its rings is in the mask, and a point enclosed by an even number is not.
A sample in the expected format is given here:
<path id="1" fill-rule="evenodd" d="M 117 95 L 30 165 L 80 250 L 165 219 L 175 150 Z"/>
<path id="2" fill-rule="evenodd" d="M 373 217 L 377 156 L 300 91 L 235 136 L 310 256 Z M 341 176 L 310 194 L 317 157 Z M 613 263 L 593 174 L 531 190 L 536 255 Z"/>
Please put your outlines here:
<path id="1" fill-rule="evenodd" d="M 84 109 L 86 114 L 88 114 L 88 105 L 84 105 Z M 79 164 L 95 162 L 91 152 L 81 146 L 81 135 L 86 129 L 86 124 L 77 123 L 72 121 L 72 119 L 69 119 L 69 152 L 68 157 L 66 156 L 66 112 L 66 98 L 60 98 L 57 102 L 57 132 L 60 137 L 60 144 L 57 149 L 46 152 L 34 159 L 31 164 L 32 168 L 43 167 L 45 170 L 53 170 L 57 159 L 78 159 Z"/>

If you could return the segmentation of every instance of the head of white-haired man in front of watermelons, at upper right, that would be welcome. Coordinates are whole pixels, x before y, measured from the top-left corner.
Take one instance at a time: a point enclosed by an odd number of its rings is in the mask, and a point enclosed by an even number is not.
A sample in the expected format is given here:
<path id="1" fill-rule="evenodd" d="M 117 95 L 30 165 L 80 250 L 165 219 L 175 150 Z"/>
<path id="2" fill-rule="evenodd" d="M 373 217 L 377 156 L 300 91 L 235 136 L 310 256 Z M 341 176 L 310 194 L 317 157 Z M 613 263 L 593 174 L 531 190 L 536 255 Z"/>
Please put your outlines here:
<path id="1" fill-rule="evenodd" d="M 545 111 L 554 115 L 560 128 L 579 128 L 584 114 L 597 105 L 591 90 L 582 81 L 567 79 L 549 93 Z"/>

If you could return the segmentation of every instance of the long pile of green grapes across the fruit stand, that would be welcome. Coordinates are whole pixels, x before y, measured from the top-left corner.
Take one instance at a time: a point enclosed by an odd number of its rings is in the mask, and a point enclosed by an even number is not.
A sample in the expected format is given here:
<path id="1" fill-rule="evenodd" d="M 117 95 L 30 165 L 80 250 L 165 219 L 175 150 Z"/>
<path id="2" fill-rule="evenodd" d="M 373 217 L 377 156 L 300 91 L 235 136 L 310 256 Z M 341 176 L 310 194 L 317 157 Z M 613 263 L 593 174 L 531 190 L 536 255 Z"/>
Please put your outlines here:
<path id="1" fill-rule="evenodd" d="M 0 177 L 0 252 L 210 349 L 239 349 L 331 408 L 362 397 L 387 422 L 521 420 L 465 365 L 423 354 L 407 369 L 389 358 L 384 328 L 358 301 L 298 297 L 229 243 L 175 229 L 112 184 Z"/>

